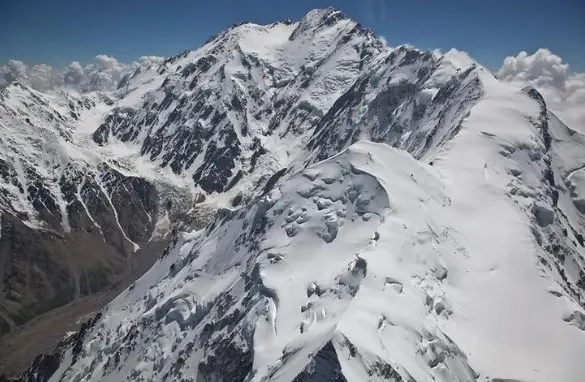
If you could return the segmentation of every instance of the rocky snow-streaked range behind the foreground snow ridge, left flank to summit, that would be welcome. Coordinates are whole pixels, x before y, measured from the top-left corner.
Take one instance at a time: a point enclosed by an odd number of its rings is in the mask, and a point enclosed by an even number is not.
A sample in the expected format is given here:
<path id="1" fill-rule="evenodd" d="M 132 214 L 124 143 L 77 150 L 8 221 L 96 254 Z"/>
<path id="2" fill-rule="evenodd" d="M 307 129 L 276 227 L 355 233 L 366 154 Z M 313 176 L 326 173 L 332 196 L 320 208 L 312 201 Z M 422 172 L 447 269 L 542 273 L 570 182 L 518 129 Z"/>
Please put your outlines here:
<path id="1" fill-rule="evenodd" d="M 103 251 L 121 255 L 106 268 L 120 270 L 124 252 L 172 231 L 169 199 L 182 200 L 171 213 L 181 224 L 191 201 L 246 203 L 274 174 L 358 139 L 433 155 L 480 93 L 474 68 L 411 47 L 389 49 L 335 10 L 310 12 L 298 23 L 241 24 L 196 51 L 137 70 L 115 92 L 48 95 L 18 82 L 4 89 L 0 205 L 31 234 L 38 227 L 81 231 L 83 241 L 92 231 L 92 240 L 110 241 Z M 136 193 L 146 198 L 124 214 Z M 103 211 L 107 218 L 98 221 Z M 15 256 L 10 263 L 13 274 L 30 268 Z M 67 273 L 85 277 L 84 269 Z M 22 279 L 10 284 L 9 299 L 18 300 L 11 315 L 23 304 L 40 308 Z M 79 295 L 68 288 L 53 287 Z M 9 317 L 9 326 L 16 321 Z"/>

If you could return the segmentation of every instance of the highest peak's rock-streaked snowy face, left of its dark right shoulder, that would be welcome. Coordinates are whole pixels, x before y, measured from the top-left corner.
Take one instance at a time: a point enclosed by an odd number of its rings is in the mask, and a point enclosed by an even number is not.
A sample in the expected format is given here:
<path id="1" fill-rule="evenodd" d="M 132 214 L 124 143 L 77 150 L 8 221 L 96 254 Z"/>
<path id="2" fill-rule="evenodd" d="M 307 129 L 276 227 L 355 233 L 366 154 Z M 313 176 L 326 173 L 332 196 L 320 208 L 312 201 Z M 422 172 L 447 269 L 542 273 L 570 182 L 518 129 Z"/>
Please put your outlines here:
<path id="1" fill-rule="evenodd" d="M 334 10 L 312 11 L 294 24 L 235 26 L 167 60 L 163 85 L 108 116 L 94 139 L 137 143 L 142 154 L 187 173 L 207 193 L 227 191 L 242 178 L 242 188 L 251 189 L 298 155 L 360 73 L 361 55 L 382 48 Z"/>

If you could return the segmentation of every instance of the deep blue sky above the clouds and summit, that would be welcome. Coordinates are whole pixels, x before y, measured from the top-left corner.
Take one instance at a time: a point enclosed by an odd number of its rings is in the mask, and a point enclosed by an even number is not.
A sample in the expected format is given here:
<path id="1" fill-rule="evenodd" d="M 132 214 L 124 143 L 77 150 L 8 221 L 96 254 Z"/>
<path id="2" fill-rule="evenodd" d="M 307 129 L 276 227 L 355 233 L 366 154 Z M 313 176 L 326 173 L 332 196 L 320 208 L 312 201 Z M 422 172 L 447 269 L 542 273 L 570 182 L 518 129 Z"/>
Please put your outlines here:
<path id="1" fill-rule="evenodd" d="M 506 56 L 544 47 L 585 71 L 583 0 L 7 0 L 0 11 L 0 65 L 172 55 L 240 21 L 297 20 L 326 6 L 391 45 L 456 47 L 491 69 Z"/>

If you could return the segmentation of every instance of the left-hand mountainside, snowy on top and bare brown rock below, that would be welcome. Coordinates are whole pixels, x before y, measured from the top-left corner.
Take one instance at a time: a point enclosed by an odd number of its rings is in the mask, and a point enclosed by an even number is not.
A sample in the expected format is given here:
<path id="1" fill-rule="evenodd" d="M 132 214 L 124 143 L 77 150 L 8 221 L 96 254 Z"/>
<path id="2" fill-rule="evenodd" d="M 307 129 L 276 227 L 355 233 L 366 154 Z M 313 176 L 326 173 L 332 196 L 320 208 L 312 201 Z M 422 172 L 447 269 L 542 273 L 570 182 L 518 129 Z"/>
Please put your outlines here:
<path id="1" fill-rule="evenodd" d="M 19 83 L 0 94 L 0 335 L 130 283 L 137 264 L 152 263 L 150 247 L 196 219 L 184 216 L 189 191 L 85 144 L 83 129 L 115 96 L 46 95 Z"/>

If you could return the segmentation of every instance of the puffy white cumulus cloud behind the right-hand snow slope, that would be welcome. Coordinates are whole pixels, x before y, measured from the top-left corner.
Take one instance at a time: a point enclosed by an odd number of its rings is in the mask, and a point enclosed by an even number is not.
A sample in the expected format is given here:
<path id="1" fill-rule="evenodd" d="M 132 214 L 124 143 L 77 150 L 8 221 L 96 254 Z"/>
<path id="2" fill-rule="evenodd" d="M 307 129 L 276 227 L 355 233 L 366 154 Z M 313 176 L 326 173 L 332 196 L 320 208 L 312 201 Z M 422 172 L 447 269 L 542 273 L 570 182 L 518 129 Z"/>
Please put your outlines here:
<path id="1" fill-rule="evenodd" d="M 520 52 L 506 57 L 497 75 L 518 86 L 534 86 L 563 122 L 585 132 L 585 73 L 573 72 L 561 57 L 548 49 Z"/>

